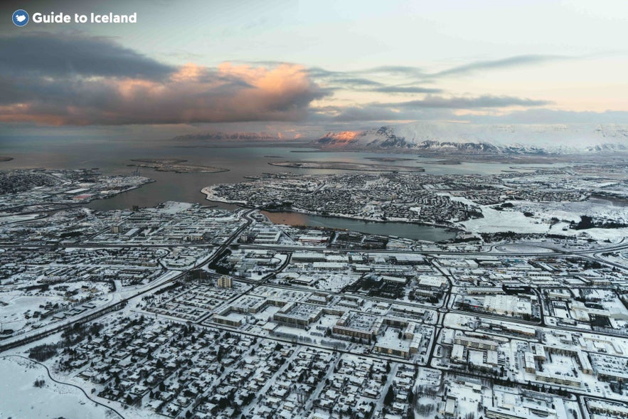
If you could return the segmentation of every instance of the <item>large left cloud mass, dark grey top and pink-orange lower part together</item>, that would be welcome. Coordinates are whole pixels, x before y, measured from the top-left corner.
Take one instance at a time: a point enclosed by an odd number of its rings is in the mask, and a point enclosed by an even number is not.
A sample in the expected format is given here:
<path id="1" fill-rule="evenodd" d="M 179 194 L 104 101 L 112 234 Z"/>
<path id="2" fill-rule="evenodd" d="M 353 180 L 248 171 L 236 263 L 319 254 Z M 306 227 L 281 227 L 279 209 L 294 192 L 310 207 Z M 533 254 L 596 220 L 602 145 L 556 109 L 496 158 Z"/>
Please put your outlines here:
<path id="1" fill-rule="evenodd" d="M 48 35 L 53 41 L 41 44 L 53 46 L 59 54 L 50 65 L 36 65 L 40 58 L 29 58 L 36 54 L 28 51 L 0 67 L 1 122 L 298 121 L 307 117 L 313 100 L 329 95 L 299 65 L 266 68 L 225 63 L 208 68 L 190 63 L 174 68 L 112 41 Z M 32 46 L 34 41 L 26 43 Z M 17 37 L 4 38 L 0 44 L 4 52 L 25 46 L 23 38 Z M 105 46 L 104 53 L 87 51 L 87 46 L 95 45 Z M 96 63 L 87 59 L 96 57 L 100 57 Z M 103 57 L 107 63 L 102 62 Z M 98 63 L 104 67 L 99 68 Z"/>

